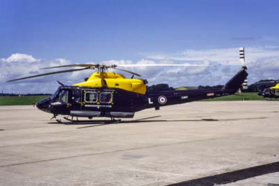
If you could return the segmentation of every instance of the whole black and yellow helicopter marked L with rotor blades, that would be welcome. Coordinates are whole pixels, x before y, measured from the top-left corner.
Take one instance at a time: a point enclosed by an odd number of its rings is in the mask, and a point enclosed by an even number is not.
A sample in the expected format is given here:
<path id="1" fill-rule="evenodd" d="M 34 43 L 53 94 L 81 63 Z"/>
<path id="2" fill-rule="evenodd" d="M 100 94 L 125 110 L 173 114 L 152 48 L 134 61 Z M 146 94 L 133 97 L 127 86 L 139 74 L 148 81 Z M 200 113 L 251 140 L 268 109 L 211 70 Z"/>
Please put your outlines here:
<path id="1" fill-rule="evenodd" d="M 243 59 L 244 48 L 240 50 L 240 58 Z M 42 73 L 35 76 L 17 78 L 8 80 L 24 80 L 27 78 L 36 78 L 38 76 L 48 76 L 56 73 L 67 73 L 72 71 L 97 70 L 84 82 L 74 85 L 63 85 L 57 81 L 60 86 L 47 99 L 36 103 L 36 107 L 47 113 L 52 113 L 53 118 L 57 115 L 70 116 L 63 117 L 70 122 L 78 122 L 78 117 L 110 117 L 111 122 L 120 122 L 120 118 L 134 117 L 135 113 L 146 108 L 155 108 L 159 110 L 162 106 L 187 103 L 190 101 L 199 101 L 202 99 L 212 99 L 219 96 L 234 94 L 241 88 L 243 81 L 246 80 L 248 73 L 247 67 L 243 64 L 242 68 L 221 88 L 212 88 L 205 90 L 162 90 L 150 92 L 146 84 L 147 80 L 141 78 L 140 74 L 119 67 L 129 66 L 191 66 L 190 64 L 69 64 L 63 66 L 52 66 L 44 69 L 56 69 L 66 67 L 82 67 L 80 69 L 67 69 L 63 71 L 54 71 Z M 199 65 L 193 65 L 199 66 Z M 131 78 L 126 78 L 121 73 L 110 72 L 108 69 L 116 69 L 131 73 Z M 76 120 L 73 118 L 76 117 Z M 117 119 L 116 119 L 117 118 Z M 56 120 L 61 122 L 61 120 Z"/>

